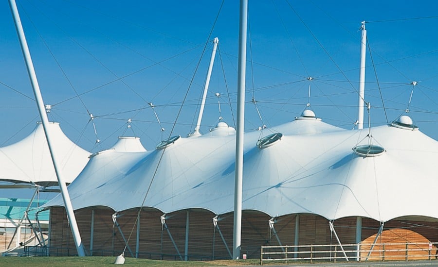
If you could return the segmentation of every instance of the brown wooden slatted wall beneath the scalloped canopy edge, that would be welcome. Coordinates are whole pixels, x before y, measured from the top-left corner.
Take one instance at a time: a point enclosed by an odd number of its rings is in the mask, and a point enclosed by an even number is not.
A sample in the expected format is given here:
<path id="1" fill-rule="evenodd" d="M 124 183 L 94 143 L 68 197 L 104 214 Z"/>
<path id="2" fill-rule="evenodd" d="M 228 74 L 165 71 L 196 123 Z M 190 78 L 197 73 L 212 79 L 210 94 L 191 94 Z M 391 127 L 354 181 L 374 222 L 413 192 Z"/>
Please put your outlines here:
<path id="1" fill-rule="evenodd" d="M 90 253 L 91 210 L 94 209 L 94 240 L 93 255 L 115 256 L 125 247 L 121 234 L 113 228 L 111 215 L 114 211 L 106 207 L 86 208 L 75 211 L 79 231 L 87 254 Z M 117 220 L 122 231 L 128 238 L 133 229 L 129 246 L 134 253 L 136 250 L 136 226 L 133 228 L 138 209 L 121 212 Z M 160 217 L 162 212 L 156 209 L 144 208 L 140 216 L 139 257 L 151 259 L 179 259 L 169 235 L 164 230 Z M 178 211 L 167 215 L 166 223 L 178 249 L 184 257 L 185 225 L 187 211 Z M 212 218 L 214 214 L 205 210 L 190 211 L 189 225 L 189 260 L 230 258 L 219 232 L 214 231 Z M 336 244 L 337 241 L 330 233 L 329 221 L 324 217 L 312 214 L 299 215 L 299 245 L 326 245 Z M 241 254 L 248 258 L 260 256 L 261 245 L 279 245 L 276 237 L 270 231 L 268 220 L 270 217 L 256 211 L 242 212 L 242 239 Z M 276 218 L 274 224 L 282 245 L 293 245 L 295 234 L 296 215 L 287 215 Z M 233 250 L 233 213 L 219 216 L 219 228 L 227 242 L 228 248 Z M 343 244 L 355 243 L 356 217 L 338 219 L 334 222 L 335 230 Z M 362 240 L 370 240 L 377 234 L 380 223 L 369 218 L 362 218 Z M 410 227 L 414 234 L 406 234 L 403 228 Z M 403 235 L 409 242 L 428 240 L 438 242 L 438 220 L 426 218 L 421 220 L 394 219 L 385 223 L 384 230 L 392 230 L 394 235 Z M 65 209 L 52 207 L 50 209 L 50 255 L 75 255 L 73 237 L 71 234 Z M 386 232 L 385 232 L 386 233 Z M 387 232 L 389 233 L 389 232 Z M 404 233 L 404 234 L 403 234 Z M 163 235 L 162 235 L 163 234 Z M 389 236 L 389 235 L 387 235 Z M 163 241 L 162 241 L 163 237 Z M 385 237 L 386 241 L 391 240 Z M 394 240 L 394 239 L 393 239 Z M 435 247 L 434 247 L 435 248 Z M 125 256 L 129 257 L 128 253 Z M 240 255 L 242 256 L 242 255 Z M 305 255 L 302 255 L 305 256 Z"/>

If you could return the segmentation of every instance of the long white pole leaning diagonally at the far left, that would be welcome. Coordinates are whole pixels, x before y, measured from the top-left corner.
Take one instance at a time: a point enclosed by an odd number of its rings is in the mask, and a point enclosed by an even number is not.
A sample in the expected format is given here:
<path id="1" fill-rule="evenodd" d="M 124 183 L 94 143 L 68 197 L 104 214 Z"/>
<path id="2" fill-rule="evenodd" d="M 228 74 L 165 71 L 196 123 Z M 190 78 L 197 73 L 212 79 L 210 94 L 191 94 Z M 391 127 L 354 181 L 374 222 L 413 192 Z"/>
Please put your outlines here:
<path id="1" fill-rule="evenodd" d="M 9 6 L 11 7 L 12 16 L 14 17 L 15 28 L 17 30 L 18 39 L 21 45 L 21 51 L 23 52 L 24 61 L 26 62 L 27 72 L 29 73 L 29 78 L 32 83 L 32 88 L 34 89 L 35 99 L 37 100 L 37 106 L 39 111 L 39 116 L 41 117 L 41 122 L 44 129 L 44 134 L 46 135 L 47 144 L 49 146 L 50 156 L 52 157 L 52 162 L 55 167 L 56 178 L 58 179 L 59 187 L 61 188 L 62 198 L 64 200 L 65 209 L 67 210 L 67 217 L 70 222 L 70 227 L 73 233 L 74 243 L 76 245 L 77 254 L 80 257 L 85 256 L 84 245 L 82 244 L 81 236 L 79 234 L 79 229 L 77 227 L 76 218 L 73 213 L 73 206 L 70 200 L 69 192 L 67 190 L 67 185 L 65 185 L 64 179 L 61 175 L 61 169 L 58 167 L 56 162 L 55 150 L 51 145 L 50 131 L 48 131 L 49 120 L 47 118 L 46 110 L 44 108 L 44 102 L 42 100 L 41 91 L 39 90 L 39 85 L 37 81 L 37 74 L 35 73 L 34 65 L 32 63 L 32 58 L 30 55 L 29 48 L 27 46 L 26 37 L 24 36 L 23 26 L 21 25 L 21 20 L 18 14 L 17 4 L 15 0 L 9 0 Z"/>

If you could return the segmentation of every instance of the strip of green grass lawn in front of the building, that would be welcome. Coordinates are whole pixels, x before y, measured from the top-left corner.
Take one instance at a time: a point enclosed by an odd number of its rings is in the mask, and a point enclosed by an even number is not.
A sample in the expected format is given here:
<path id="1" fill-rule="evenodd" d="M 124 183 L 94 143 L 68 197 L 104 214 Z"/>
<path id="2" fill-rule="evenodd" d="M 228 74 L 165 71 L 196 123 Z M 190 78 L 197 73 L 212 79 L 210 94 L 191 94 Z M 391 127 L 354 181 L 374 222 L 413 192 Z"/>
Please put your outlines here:
<path id="1" fill-rule="evenodd" d="M 0 267 L 81 267 L 113 265 L 116 257 L 0 257 Z M 259 260 L 224 260 L 212 262 L 159 261 L 126 258 L 124 266 L 179 267 L 179 266 L 238 266 L 259 265 Z"/>

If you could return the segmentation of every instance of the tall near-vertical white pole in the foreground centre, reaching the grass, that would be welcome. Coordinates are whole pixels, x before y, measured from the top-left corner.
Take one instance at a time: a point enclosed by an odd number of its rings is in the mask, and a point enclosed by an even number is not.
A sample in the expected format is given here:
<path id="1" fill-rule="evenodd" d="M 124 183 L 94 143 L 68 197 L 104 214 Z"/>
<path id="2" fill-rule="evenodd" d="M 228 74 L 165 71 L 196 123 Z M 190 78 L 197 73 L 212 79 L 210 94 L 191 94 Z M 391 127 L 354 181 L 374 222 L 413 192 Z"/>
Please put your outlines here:
<path id="1" fill-rule="evenodd" d="M 236 174 L 234 186 L 233 259 L 240 258 L 242 230 L 243 130 L 245 119 L 246 31 L 248 0 L 240 0 L 239 53 L 237 73 Z"/>

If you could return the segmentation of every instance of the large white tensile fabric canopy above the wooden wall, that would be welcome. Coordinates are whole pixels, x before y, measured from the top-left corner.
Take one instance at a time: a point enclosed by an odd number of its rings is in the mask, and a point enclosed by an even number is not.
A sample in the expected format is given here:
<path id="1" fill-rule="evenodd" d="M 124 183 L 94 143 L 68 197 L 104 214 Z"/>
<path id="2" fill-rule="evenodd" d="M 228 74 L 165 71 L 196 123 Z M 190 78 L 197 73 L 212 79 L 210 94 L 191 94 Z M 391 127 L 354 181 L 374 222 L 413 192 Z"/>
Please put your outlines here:
<path id="1" fill-rule="evenodd" d="M 412 121 L 402 122 L 347 131 L 310 116 L 246 133 L 242 208 L 273 217 L 312 213 L 329 220 L 438 218 L 429 205 L 438 191 L 438 143 Z M 233 133 L 219 123 L 209 134 L 164 142 L 153 151 L 100 152 L 69 186 L 73 207 L 123 211 L 145 200 L 143 206 L 164 213 L 188 208 L 231 212 Z M 268 138 L 272 143 L 257 142 L 272 133 L 282 135 Z M 43 207 L 57 205 L 63 205 L 59 195 Z"/>

